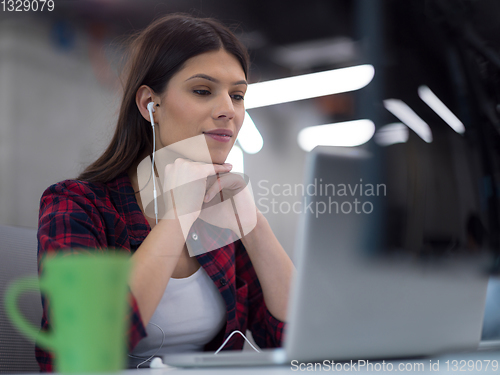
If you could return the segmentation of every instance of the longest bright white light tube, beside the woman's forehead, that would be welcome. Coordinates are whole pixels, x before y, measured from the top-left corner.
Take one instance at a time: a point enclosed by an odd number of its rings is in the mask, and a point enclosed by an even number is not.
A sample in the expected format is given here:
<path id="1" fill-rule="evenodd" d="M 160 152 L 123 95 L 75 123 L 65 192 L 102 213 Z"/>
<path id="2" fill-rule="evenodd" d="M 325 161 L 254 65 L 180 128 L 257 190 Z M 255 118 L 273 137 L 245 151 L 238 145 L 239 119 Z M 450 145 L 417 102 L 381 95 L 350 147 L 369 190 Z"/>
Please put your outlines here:
<path id="1" fill-rule="evenodd" d="M 373 66 L 367 64 L 253 83 L 248 86 L 245 95 L 245 108 L 358 90 L 369 84 L 374 74 Z"/>

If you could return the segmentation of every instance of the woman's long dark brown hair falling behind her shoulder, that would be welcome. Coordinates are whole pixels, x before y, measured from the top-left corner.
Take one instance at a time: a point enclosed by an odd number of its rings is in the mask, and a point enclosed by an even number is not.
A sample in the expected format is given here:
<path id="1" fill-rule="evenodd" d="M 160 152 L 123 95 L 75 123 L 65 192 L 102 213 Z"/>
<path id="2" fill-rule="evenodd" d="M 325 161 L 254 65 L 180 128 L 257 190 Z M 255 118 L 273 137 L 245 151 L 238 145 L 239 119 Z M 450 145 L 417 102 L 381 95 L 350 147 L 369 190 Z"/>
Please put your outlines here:
<path id="1" fill-rule="evenodd" d="M 142 85 L 162 94 L 186 60 L 204 52 L 225 49 L 248 76 L 248 52 L 225 26 L 210 18 L 173 14 L 157 19 L 132 38 L 123 99 L 117 126 L 104 153 L 77 177 L 105 183 L 127 171 L 145 151 L 152 150 L 151 125 L 135 102 Z"/>

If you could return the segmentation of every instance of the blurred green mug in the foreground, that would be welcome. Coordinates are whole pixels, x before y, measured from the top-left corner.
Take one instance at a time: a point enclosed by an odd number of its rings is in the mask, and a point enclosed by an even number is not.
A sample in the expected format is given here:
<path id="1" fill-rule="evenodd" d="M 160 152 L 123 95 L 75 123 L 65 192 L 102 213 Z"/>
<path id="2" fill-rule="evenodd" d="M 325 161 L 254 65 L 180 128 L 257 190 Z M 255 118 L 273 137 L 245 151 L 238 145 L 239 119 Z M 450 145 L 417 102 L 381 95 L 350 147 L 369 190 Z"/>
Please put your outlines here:
<path id="1" fill-rule="evenodd" d="M 54 353 L 58 372 L 112 372 L 126 367 L 128 277 L 126 254 L 66 254 L 43 261 L 40 280 L 13 282 L 5 296 L 12 322 Z M 38 290 L 49 302 L 50 332 L 40 332 L 20 313 L 17 299 Z"/>

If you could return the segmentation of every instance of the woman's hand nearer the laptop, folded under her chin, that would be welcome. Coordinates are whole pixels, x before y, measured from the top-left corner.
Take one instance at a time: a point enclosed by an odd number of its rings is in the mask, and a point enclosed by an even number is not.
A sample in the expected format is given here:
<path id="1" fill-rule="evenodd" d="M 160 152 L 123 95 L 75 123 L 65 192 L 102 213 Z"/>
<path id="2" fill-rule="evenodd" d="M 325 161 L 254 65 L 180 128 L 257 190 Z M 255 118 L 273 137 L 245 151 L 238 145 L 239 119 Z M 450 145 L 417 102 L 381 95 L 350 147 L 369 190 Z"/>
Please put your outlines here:
<path id="1" fill-rule="evenodd" d="M 250 233 L 257 223 L 250 181 L 244 175 L 226 173 L 209 177 L 207 183 L 200 219 L 231 229 L 240 238 Z"/>

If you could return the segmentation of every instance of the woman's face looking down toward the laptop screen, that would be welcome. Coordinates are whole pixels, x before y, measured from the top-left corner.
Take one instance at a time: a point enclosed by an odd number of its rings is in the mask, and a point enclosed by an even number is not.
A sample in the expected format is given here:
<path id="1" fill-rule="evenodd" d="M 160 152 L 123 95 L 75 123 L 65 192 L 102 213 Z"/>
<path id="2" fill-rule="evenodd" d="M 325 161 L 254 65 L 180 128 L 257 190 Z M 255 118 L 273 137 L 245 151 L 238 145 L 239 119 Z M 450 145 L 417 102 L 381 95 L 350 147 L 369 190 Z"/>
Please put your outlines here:
<path id="1" fill-rule="evenodd" d="M 224 163 L 243 124 L 246 89 L 241 64 L 224 49 L 187 60 L 155 107 L 157 149 L 203 134 L 212 162 Z"/>

